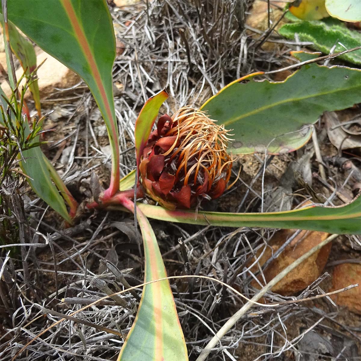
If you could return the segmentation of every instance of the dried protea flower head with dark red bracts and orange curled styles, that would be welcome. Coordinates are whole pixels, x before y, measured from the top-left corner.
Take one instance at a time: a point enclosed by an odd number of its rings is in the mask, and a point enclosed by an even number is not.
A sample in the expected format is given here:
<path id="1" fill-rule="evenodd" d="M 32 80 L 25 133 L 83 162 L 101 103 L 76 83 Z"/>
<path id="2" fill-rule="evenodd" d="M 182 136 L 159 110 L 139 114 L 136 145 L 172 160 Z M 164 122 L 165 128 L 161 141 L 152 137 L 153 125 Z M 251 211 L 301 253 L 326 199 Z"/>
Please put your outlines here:
<path id="1" fill-rule="evenodd" d="M 139 165 L 145 191 L 169 209 L 221 196 L 232 168 L 227 133 L 224 125 L 190 107 L 161 116 Z"/>

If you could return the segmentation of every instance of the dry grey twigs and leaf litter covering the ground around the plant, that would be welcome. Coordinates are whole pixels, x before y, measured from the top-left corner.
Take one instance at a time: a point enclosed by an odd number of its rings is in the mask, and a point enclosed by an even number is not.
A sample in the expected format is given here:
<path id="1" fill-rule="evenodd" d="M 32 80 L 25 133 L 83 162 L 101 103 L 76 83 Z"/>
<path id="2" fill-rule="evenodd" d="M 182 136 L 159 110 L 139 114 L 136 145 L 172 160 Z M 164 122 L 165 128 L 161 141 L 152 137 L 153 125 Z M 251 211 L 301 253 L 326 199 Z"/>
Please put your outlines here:
<path id="1" fill-rule="evenodd" d="M 257 29 L 254 33 L 259 35 L 257 38 L 246 34 L 244 21 L 250 3 L 229 1 L 213 6 L 210 2 L 196 2 L 191 6 L 187 1 L 167 0 L 164 4 L 153 1 L 148 6 L 138 3 L 112 9 L 117 38 L 122 39 L 124 45 L 113 68 L 118 89 L 115 103 L 123 175 L 135 164 L 134 122 L 144 102 L 142 89 L 151 96 L 168 84 L 171 96 L 161 113 L 172 113 L 186 104 L 201 105 L 236 77 L 290 65 L 287 52 L 299 46 L 297 41 L 285 41 L 276 32 L 266 35 L 262 30 L 258 34 Z M 274 42 L 271 49 L 257 46 L 265 36 Z M 97 121 L 95 104 L 83 84 L 79 84 L 79 90 L 75 87 L 73 94 L 74 99 L 56 103 L 65 110 L 58 111 L 60 116 L 54 118 L 57 132 L 49 136 L 54 142 L 47 155 L 54 159 L 77 200 L 84 201 L 91 197 L 92 172 L 97 173 L 104 187 L 109 182 L 110 162 L 102 150 L 108 143 Z M 348 154 L 343 153 L 347 158 L 342 160 L 330 145 L 321 122 L 316 124 L 316 131 L 327 182 L 317 178 L 319 162 L 310 144 L 304 151 L 288 155 L 244 156 L 233 169 L 236 177 L 237 168 L 243 166 L 238 182 L 219 200 L 206 205 L 206 209 L 259 212 L 262 208 L 264 211 L 286 206 L 296 208 L 307 199 L 326 205 L 351 200 L 355 185 L 360 183 L 357 173 L 360 154 L 357 149 L 348 149 Z M 62 164 L 61 152 L 57 155 L 57 150 L 64 142 L 72 161 L 64 159 Z M 344 164 L 348 166 L 343 168 Z M 305 182 L 300 184 L 300 179 Z M 137 232 L 126 214 L 98 210 L 87 214 L 78 225 L 64 229 L 55 213 L 31 194 L 26 184 L 14 182 L 8 180 L 3 184 L 5 197 L 1 205 L 2 210 L 10 209 L 13 216 L 1 217 L 9 218 L 10 237 L 18 239 L 18 243 L 34 243 L 34 247 L 17 247 L 8 256 L 4 248 L 0 249 L 2 360 L 11 360 L 26 342 L 58 321 L 60 316 L 55 312 L 69 315 L 110 292 L 127 288 L 126 284 L 141 284 L 144 277 L 143 252 L 139 252 Z M 27 191 L 30 196 L 25 210 L 17 189 Z M 274 194 L 279 194 L 282 201 L 275 199 Z M 247 297 L 257 293 L 252 267 L 257 267 L 261 279 L 266 277 L 267 269 L 263 272 L 257 261 L 270 249 L 271 239 L 277 232 L 247 227 L 235 232 L 222 227 L 180 226 L 158 221 L 152 221 L 152 226 L 169 275 L 191 272 L 214 277 Z M 298 231 L 288 232 L 283 241 L 297 236 L 300 237 Z M 182 250 L 178 239 L 182 239 Z M 45 247 L 35 247 L 39 244 Z M 299 243 L 295 247 L 297 245 Z M 332 262 L 339 261 L 336 256 L 357 261 L 360 246 L 356 236 L 340 237 L 332 244 L 325 270 L 332 271 L 335 267 Z M 284 261 L 285 254 L 279 252 L 277 259 Z M 106 259 L 112 263 L 101 262 Z M 293 300 L 295 296 L 302 299 L 328 292 L 330 278 L 322 272 L 324 270 L 318 270 L 312 280 L 307 280 L 310 287 L 305 290 L 299 289 L 288 296 L 269 292 L 264 301 L 279 303 Z M 332 290 L 348 285 L 347 281 L 341 282 L 332 286 Z M 212 338 L 212 331 L 216 332 L 244 300 L 204 279 L 174 280 L 171 287 L 189 358 L 196 360 Z M 116 357 L 123 344 L 119 334 L 125 337 L 134 321 L 141 289 L 135 291 L 135 295 L 121 296 L 122 301 L 109 298 L 81 311 L 74 316 L 78 321 L 61 322 L 36 339 L 17 359 L 108 360 Z M 116 334 L 109 333 L 108 329 Z M 336 308 L 328 298 L 267 311 L 257 306 L 222 338 L 207 360 L 299 360 L 300 357 L 312 359 L 314 354 L 324 360 L 355 359 L 360 355 L 356 346 L 360 340 L 360 318 L 341 305 Z"/>

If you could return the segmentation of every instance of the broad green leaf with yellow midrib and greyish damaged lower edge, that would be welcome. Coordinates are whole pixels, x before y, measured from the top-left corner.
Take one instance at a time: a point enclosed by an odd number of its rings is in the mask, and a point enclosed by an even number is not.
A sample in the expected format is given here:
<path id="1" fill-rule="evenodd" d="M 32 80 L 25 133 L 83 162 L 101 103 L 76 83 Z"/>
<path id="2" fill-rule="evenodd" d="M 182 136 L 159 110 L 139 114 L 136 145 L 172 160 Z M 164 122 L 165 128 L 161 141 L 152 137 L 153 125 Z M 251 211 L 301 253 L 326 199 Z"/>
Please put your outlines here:
<path id="1" fill-rule="evenodd" d="M 238 79 L 201 107 L 232 129 L 235 154 L 294 151 L 308 142 L 312 124 L 326 110 L 360 102 L 360 70 L 307 64 L 283 82 Z"/>

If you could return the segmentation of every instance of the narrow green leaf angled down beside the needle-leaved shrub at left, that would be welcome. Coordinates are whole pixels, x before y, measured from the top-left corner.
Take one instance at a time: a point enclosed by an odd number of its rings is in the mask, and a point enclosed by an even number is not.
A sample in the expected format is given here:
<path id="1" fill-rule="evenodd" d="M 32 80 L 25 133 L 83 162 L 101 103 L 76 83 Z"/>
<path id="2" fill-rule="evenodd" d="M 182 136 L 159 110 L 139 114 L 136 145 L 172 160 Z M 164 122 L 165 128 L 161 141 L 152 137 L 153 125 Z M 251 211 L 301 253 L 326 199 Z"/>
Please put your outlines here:
<path id="1" fill-rule="evenodd" d="M 29 135 L 30 129 L 27 122 L 25 124 L 25 135 Z M 38 142 L 38 137 L 34 142 Z M 30 183 L 34 192 L 44 200 L 51 208 L 60 214 L 67 222 L 72 220 L 66 209 L 64 199 L 53 184 L 47 163 L 44 161 L 43 152 L 39 147 L 30 148 L 22 152 L 25 161 L 20 162 L 22 171 L 27 175 L 27 181 Z"/>

